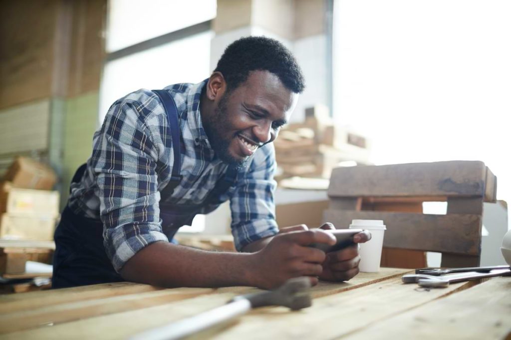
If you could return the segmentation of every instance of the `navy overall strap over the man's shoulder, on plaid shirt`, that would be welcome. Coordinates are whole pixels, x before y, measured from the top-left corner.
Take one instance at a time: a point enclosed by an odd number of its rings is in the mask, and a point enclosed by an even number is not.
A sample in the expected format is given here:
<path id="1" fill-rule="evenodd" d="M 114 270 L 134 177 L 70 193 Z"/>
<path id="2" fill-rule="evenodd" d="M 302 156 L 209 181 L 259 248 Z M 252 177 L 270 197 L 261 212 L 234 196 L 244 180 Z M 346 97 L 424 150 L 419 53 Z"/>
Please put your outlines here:
<path id="1" fill-rule="evenodd" d="M 167 186 L 161 191 L 161 200 L 165 200 L 172 195 L 174 189 L 181 181 L 181 152 L 180 152 L 180 134 L 179 121 L 177 120 L 176 102 L 167 90 L 152 90 L 160 98 L 161 103 L 167 113 L 167 120 L 170 126 L 172 136 L 172 149 L 174 151 L 174 165 L 172 166 L 172 174 Z"/>

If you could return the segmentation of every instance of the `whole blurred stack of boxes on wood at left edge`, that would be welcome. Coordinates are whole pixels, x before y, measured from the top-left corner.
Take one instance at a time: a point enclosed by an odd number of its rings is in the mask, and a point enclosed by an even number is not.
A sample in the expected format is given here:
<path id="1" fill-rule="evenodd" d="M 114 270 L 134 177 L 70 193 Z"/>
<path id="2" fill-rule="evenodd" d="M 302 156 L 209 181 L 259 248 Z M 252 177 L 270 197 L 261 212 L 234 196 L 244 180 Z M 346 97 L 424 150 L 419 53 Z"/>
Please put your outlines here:
<path id="1" fill-rule="evenodd" d="M 59 218 L 57 176 L 48 166 L 18 157 L 0 182 L 0 286 L 29 289 L 41 273 L 27 273 L 27 261 L 50 263 Z M 45 276 L 51 276 L 51 273 Z M 46 280 L 49 281 L 49 280 Z M 22 286 L 20 285 L 22 284 Z"/>

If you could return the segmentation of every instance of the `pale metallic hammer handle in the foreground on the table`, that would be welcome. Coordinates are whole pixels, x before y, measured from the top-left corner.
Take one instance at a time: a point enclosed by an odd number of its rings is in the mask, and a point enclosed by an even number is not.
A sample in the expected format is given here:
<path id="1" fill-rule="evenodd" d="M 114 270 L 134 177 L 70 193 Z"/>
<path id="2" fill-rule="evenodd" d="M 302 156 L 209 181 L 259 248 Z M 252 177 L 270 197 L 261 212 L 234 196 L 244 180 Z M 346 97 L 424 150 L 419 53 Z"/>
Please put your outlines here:
<path id="1" fill-rule="evenodd" d="M 223 306 L 205 311 L 193 317 L 185 318 L 166 326 L 153 328 L 131 337 L 131 340 L 174 340 L 200 332 L 223 323 L 250 310 L 247 299 L 239 299 Z"/>

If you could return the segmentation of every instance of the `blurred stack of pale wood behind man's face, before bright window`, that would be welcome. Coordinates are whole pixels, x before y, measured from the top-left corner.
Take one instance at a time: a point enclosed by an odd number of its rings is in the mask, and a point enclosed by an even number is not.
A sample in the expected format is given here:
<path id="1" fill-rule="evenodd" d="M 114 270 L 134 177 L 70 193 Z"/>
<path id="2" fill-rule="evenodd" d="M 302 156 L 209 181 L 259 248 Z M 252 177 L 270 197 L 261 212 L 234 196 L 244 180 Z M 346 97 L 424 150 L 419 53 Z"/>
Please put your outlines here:
<path id="1" fill-rule="evenodd" d="M 303 123 L 281 130 L 274 142 L 280 173 L 277 180 L 292 176 L 329 178 L 340 162 L 368 164 L 369 141 L 333 124 L 328 108 L 306 110 Z"/>

